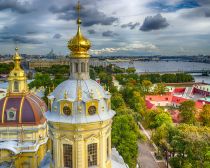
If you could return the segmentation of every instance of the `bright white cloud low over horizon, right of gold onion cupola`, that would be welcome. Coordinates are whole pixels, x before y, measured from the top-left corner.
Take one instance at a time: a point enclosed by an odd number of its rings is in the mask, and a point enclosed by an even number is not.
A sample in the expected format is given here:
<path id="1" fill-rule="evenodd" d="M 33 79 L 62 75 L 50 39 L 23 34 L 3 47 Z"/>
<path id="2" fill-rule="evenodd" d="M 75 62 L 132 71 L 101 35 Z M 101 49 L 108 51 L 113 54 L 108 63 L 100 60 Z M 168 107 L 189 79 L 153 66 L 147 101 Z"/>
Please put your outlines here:
<path id="1" fill-rule="evenodd" d="M 103 48 L 100 50 L 90 50 L 91 54 L 94 55 L 101 55 L 104 53 L 115 53 L 115 52 L 120 52 L 120 51 L 141 51 L 141 50 L 148 50 L 148 51 L 154 51 L 158 50 L 158 47 L 155 46 L 154 44 L 150 43 L 141 43 L 141 42 L 135 42 L 133 44 L 127 45 L 127 46 L 122 46 L 122 47 L 117 47 L 117 48 Z"/>

